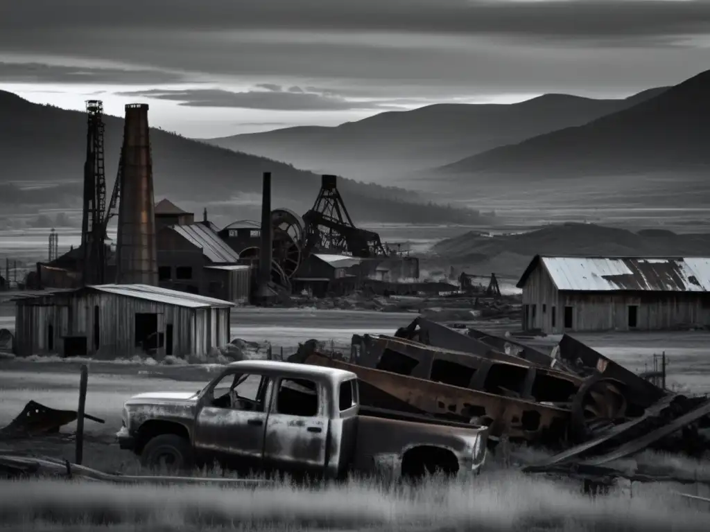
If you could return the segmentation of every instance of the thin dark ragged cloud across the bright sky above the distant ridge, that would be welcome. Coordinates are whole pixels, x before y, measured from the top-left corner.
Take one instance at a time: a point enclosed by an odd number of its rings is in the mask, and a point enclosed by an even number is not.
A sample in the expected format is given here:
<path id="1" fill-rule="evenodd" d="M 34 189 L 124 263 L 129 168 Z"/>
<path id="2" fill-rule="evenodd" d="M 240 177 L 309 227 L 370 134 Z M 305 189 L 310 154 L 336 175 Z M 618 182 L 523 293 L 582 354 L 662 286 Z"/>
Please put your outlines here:
<path id="1" fill-rule="evenodd" d="M 261 84 L 259 87 L 264 87 Z M 266 84 L 269 85 L 269 84 Z M 275 88 L 274 88 L 275 87 Z M 236 107 L 271 111 L 347 111 L 351 109 L 392 109 L 386 102 L 359 103 L 342 96 L 305 92 L 283 92 L 278 85 L 266 91 L 230 92 L 222 89 L 185 89 L 119 92 L 121 96 L 178 101 L 190 107 Z"/>

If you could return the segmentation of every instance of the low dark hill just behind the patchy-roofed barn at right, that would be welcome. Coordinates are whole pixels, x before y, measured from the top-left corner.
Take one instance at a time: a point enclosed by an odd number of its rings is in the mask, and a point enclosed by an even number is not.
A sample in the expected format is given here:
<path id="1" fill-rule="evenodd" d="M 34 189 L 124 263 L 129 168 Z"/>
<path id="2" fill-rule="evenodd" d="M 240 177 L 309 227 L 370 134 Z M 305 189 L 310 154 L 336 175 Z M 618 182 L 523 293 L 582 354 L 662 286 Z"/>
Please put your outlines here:
<path id="1" fill-rule="evenodd" d="M 564 223 L 529 233 L 487 236 L 471 231 L 447 238 L 432 248 L 439 262 L 469 268 L 471 272 L 521 275 L 535 255 L 707 256 L 710 234 L 626 229 L 592 223 Z"/>

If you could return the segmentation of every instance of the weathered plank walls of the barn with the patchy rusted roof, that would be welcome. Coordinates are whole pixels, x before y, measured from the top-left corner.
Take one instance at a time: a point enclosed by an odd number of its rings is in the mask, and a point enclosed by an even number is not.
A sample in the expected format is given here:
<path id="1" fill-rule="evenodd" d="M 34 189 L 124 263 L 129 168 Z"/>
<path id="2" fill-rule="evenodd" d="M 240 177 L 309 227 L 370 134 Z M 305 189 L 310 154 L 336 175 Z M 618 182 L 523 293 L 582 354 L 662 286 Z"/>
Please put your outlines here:
<path id="1" fill-rule="evenodd" d="M 564 308 L 572 307 L 572 327 L 564 327 Z M 629 307 L 636 326 L 630 327 Z M 555 308 L 555 326 L 552 308 Z M 532 309 L 535 309 L 533 311 Z M 534 317 L 533 317 L 534 314 Z M 523 329 L 547 334 L 574 331 L 661 331 L 710 325 L 706 292 L 559 292 L 543 265 L 523 287 Z"/>

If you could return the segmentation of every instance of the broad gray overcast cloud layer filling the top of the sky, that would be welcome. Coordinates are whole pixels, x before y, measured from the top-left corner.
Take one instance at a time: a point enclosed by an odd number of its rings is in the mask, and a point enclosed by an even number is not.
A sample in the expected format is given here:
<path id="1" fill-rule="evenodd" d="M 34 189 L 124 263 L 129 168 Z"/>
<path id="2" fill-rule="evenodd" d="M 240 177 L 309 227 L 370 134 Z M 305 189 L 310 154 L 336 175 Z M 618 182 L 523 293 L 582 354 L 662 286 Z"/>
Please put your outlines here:
<path id="1" fill-rule="evenodd" d="M 706 0 L 124 0 L 102 4 L 101 16 L 89 0 L 7 3 L 0 50 L 194 72 L 274 93 L 239 102 L 192 93 L 187 105 L 339 111 L 354 98 L 616 96 L 709 67 L 707 48 L 682 43 L 710 33 Z"/>

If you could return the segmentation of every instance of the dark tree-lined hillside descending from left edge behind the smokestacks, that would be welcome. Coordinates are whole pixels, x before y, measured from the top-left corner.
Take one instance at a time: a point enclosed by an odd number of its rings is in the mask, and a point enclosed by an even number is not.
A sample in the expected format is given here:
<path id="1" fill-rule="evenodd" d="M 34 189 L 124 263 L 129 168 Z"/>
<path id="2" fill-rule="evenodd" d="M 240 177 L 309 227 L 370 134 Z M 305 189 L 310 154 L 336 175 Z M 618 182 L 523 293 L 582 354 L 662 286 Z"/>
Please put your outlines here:
<path id="1" fill-rule="evenodd" d="M 110 193 L 124 121 L 113 116 L 106 116 L 104 121 Z M 86 115 L 80 111 L 32 104 L 15 94 L 0 92 L 0 204 L 5 214 L 26 206 L 80 206 L 86 122 Z M 320 188 L 320 176 L 283 162 L 235 153 L 155 128 L 151 129 L 151 146 L 155 196 L 168 196 L 197 212 L 202 206 L 219 202 L 214 211 L 231 220 L 253 216 L 258 212 L 264 171 L 273 174 L 274 206 L 305 212 Z M 422 205 L 417 194 L 403 189 L 348 179 L 341 179 L 339 188 L 356 223 L 421 222 L 422 218 L 464 223 L 474 216 L 473 211 L 464 209 Z"/>

